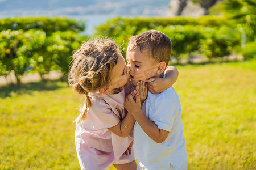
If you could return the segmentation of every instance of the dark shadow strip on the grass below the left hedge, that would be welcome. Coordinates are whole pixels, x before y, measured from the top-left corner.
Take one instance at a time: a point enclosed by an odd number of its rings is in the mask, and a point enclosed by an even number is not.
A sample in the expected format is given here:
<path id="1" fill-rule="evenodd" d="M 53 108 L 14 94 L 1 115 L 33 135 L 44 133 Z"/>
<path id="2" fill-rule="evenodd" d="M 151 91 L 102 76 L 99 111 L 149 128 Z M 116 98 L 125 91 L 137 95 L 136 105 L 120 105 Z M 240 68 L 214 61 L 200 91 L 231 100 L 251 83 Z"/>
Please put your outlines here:
<path id="1" fill-rule="evenodd" d="M 7 84 L 0 87 L 0 98 L 10 97 L 11 94 L 31 94 L 33 91 L 53 91 L 59 88 L 68 87 L 68 78 L 63 76 L 56 80 L 42 80 L 26 84 Z"/>

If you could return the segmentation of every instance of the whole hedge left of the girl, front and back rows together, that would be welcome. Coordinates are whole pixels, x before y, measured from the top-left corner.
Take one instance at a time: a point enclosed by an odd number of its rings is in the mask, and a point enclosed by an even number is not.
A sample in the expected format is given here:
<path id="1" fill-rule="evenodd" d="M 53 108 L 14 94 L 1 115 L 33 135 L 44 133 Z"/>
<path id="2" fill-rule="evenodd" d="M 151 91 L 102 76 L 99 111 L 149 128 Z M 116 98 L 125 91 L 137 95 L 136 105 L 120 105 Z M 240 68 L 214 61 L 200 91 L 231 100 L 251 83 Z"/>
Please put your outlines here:
<path id="1" fill-rule="evenodd" d="M 70 56 L 88 39 L 78 34 L 84 28 L 85 22 L 67 18 L 0 19 L 0 75 L 13 71 L 19 83 L 29 72 L 67 74 Z"/>

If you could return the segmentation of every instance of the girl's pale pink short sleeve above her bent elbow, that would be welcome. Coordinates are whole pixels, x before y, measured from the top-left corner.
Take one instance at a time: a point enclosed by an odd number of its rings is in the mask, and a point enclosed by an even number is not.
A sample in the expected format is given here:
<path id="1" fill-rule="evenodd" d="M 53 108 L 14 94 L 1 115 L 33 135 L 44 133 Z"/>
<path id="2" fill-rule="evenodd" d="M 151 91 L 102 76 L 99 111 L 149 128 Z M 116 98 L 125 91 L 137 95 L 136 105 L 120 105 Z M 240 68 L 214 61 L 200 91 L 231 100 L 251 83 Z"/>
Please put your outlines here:
<path id="1" fill-rule="evenodd" d="M 93 100 L 85 116 L 84 128 L 88 130 L 101 130 L 118 124 L 119 117 L 104 100 Z"/>

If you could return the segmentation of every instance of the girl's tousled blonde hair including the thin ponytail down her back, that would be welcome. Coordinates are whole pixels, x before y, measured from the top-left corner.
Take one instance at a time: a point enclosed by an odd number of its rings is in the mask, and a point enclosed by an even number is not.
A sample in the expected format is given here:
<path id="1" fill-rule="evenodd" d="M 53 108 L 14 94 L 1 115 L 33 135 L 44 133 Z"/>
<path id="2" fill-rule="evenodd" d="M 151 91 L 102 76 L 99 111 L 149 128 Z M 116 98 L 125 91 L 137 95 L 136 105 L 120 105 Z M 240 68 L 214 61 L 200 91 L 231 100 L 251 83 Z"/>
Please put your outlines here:
<path id="1" fill-rule="evenodd" d="M 85 42 L 73 53 L 68 82 L 74 91 L 85 94 L 86 106 L 76 118 L 77 124 L 84 120 L 87 109 L 92 105 L 89 92 L 108 87 L 118 54 L 119 48 L 111 39 Z"/>

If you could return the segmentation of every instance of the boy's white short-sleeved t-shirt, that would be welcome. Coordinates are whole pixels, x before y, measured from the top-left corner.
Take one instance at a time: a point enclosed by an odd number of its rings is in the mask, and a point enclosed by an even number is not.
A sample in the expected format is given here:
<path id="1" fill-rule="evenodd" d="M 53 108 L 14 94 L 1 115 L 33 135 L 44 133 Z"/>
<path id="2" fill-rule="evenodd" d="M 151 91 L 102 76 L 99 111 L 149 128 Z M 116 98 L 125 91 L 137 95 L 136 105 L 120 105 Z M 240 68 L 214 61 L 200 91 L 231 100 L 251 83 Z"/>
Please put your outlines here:
<path id="1" fill-rule="evenodd" d="M 163 143 L 148 137 L 136 122 L 134 125 L 134 153 L 139 169 L 183 169 L 187 167 L 187 151 L 183 138 L 181 105 L 173 87 L 160 94 L 151 94 L 142 111 L 159 129 L 170 131 Z"/>

